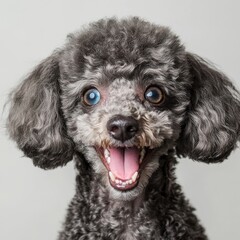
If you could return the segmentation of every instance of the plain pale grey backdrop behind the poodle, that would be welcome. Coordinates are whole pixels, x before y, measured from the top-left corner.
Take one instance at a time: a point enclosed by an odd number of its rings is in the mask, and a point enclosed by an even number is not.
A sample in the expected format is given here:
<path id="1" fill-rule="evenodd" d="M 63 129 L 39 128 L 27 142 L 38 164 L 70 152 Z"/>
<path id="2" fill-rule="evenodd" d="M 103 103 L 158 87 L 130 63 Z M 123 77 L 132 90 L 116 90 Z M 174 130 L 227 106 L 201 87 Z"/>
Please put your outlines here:
<path id="1" fill-rule="evenodd" d="M 68 33 L 103 17 L 140 16 L 167 25 L 186 48 L 240 86 L 240 4 L 231 0 L 0 0 L 0 109 L 30 69 Z M 240 89 L 240 88 L 239 88 Z M 8 140 L 1 116 L 0 239 L 56 239 L 74 194 L 73 164 L 33 167 Z M 240 239 L 240 150 L 222 164 L 181 159 L 178 181 L 212 240 Z"/>

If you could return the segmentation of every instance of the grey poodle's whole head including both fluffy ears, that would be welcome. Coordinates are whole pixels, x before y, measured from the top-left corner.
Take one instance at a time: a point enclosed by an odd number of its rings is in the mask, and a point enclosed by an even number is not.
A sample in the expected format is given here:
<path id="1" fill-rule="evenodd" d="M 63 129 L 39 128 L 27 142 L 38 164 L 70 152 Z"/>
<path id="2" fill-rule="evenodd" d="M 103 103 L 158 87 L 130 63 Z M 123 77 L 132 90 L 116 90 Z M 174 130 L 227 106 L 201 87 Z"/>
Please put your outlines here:
<path id="1" fill-rule="evenodd" d="M 217 162 L 235 147 L 239 94 L 168 28 L 102 20 L 74 34 L 13 93 L 8 128 L 43 168 L 83 153 L 115 198 L 146 187 L 169 149 Z M 34 114 L 33 114 L 34 113 Z"/>

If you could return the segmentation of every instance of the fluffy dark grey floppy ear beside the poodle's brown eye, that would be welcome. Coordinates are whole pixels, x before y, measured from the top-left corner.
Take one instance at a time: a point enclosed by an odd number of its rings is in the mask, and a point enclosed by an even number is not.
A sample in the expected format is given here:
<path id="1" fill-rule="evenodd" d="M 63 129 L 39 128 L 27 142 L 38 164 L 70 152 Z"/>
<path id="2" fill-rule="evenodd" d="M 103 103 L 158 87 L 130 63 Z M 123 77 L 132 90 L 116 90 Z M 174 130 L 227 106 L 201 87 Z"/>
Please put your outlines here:
<path id="1" fill-rule="evenodd" d="M 240 135 L 240 95 L 228 78 L 200 57 L 187 53 L 191 103 L 177 153 L 207 163 L 221 162 Z"/>

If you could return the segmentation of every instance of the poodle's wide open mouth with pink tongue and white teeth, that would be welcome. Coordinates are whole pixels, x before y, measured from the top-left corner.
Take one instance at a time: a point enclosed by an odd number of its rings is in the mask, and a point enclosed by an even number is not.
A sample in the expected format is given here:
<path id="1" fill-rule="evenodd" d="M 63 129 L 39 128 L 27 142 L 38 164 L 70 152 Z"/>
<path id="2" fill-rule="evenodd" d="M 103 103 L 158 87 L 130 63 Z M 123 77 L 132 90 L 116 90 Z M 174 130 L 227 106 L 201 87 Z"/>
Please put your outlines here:
<path id="1" fill-rule="evenodd" d="M 113 188 L 126 191 L 137 186 L 146 151 L 146 148 L 137 147 L 98 149 Z"/>

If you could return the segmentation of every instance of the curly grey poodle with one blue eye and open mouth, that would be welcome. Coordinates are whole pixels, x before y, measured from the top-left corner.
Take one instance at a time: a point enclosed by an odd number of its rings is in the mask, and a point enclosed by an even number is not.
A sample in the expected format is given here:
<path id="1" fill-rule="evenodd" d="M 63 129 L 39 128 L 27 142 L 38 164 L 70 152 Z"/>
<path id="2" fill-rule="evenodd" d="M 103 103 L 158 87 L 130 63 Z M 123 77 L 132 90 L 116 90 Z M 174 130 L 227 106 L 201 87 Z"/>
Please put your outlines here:
<path id="1" fill-rule="evenodd" d="M 226 159 L 240 97 L 169 28 L 137 17 L 89 24 L 10 96 L 7 127 L 25 156 L 43 169 L 75 162 L 59 240 L 207 239 L 176 158 Z"/>

